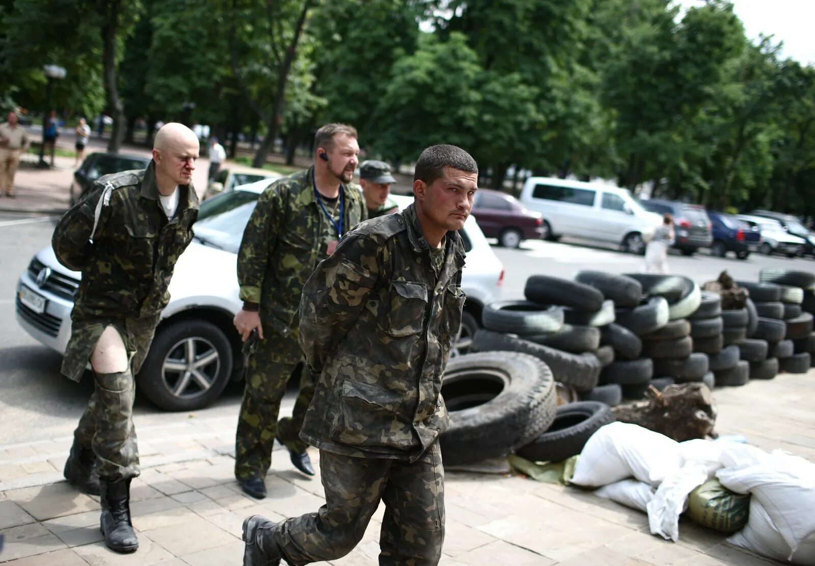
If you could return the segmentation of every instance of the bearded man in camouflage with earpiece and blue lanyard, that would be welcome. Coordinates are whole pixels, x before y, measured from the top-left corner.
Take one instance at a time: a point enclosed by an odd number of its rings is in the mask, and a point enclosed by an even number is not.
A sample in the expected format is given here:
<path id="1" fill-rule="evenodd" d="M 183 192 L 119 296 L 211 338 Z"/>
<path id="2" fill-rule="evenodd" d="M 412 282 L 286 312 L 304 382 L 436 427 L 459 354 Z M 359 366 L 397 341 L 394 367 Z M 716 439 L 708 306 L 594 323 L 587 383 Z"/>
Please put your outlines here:
<path id="1" fill-rule="evenodd" d="M 319 261 L 337 247 L 347 230 L 365 219 L 359 187 L 352 184 L 359 163 L 354 128 L 324 125 L 315 135 L 315 160 L 306 171 L 271 183 L 258 199 L 238 253 L 238 281 L 244 308 L 235 326 L 244 340 L 255 330 L 259 343 L 249 356 L 235 442 L 235 476 L 244 491 L 266 497 L 264 478 L 275 437 L 292 463 L 314 475 L 306 443 L 298 436 L 314 393 L 304 370 L 292 419 L 280 419 L 286 383 L 302 358 L 297 345 L 297 305 L 303 284 Z"/>

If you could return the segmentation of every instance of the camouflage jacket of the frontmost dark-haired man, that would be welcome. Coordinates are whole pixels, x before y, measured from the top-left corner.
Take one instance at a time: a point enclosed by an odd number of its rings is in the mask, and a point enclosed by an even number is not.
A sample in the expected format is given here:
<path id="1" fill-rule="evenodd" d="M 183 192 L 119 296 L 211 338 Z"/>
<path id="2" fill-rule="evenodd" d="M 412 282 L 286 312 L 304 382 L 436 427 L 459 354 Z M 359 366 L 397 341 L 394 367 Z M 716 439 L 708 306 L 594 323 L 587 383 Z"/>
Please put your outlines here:
<path id="1" fill-rule="evenodd" d="M 300 345 L 319 375 L 303 441 L 415 461 L 447 429 L 441 396 L 461 322 L 464 246 L 448 232 L 438 276 L 416 211 L 363 222 L 303 289 Z"/>

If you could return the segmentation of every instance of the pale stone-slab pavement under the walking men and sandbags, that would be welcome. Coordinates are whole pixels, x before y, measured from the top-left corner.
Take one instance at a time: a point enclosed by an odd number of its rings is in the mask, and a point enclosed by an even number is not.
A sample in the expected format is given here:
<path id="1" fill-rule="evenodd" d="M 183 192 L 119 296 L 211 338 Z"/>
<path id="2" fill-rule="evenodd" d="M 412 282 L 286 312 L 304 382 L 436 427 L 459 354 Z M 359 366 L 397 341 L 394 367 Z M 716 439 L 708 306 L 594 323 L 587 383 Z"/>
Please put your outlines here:
<path id="1" fill-rule="evenodd" d="M 815 372 L 779 375 L 716 390 L 717 430 L 744 434 L 765 450 L 782 448 L 815 461 Z M 760 415 L 760 418 L 756 418 Z M 275 450 L 268 497 L 245 497 L 232 476 L 235 418 L 191 418 L 139 428 L 142 475 L 131 509 L 140 547 L 117 555 L 99 533 L 99 501 L 62 481 L 69 437 L 0 446 L 0 562 L 15 566 L 240 564 L 242 520 L 272 520 L 323 503 L 319 476 L 294 471 Z M 311 450 L 317 463 L 318 453 Z M 319 467 L 315 466 L 318 470 Z M 523 476 L 448 472 L 444 566 L 535 564 L 635 566 L 774 564 L 725 542 L 725 535 L 687 521 L 680 540 L 650 535 L 645 514 Z M 363 541 L 337 566 L 376 564 L 383 508 Z"/>

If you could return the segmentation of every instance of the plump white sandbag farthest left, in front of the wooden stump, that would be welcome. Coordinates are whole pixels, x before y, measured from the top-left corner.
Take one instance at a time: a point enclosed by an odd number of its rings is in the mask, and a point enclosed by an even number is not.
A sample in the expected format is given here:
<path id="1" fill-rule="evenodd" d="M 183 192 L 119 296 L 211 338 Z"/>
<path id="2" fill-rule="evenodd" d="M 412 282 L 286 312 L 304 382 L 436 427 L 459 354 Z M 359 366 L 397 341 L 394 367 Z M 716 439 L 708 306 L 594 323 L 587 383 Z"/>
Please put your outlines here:
<path id="1" fill-rule="evenodd" d="M 657 486 L 681 465 L 678 442 L 637 424 L 610 423 L 586 442 L 571 482 L 601 487 L 633 476 Z"/>

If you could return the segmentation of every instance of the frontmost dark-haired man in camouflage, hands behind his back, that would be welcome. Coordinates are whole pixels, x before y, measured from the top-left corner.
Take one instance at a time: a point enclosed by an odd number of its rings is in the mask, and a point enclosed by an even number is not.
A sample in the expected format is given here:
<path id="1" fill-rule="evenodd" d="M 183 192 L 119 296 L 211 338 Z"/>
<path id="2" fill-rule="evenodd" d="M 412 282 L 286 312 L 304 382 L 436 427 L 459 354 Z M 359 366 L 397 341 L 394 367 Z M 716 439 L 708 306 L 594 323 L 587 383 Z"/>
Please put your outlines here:
<path id="1" fill-rule="evenodd" d="M 303 289 L 300 344 L 319 375 L 300 436 L 319 448 L 325 505 L 244 521 L 244 566 L 348 554 L 385 502 L 379 564 L 438 564 L 444 540 L 440 394 L 461 322 L 464 226 L 478 166 L 455 146 L 416 163 L 414 204 L 363 222 Z"/>

